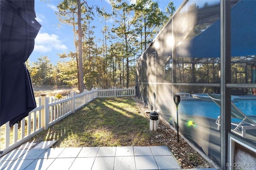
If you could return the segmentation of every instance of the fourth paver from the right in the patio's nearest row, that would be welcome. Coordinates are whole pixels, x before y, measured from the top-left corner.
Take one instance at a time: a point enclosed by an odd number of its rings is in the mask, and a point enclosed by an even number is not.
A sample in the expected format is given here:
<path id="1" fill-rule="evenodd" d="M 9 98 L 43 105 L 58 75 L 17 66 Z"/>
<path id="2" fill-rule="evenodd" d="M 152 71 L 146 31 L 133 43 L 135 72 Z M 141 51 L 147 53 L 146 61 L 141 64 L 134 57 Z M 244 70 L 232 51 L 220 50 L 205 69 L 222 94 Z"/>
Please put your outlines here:
<path id="1" fill-rule="evenodd" d="M 92 170 L 113 170 L 115 157 L 96 157 Z"/>

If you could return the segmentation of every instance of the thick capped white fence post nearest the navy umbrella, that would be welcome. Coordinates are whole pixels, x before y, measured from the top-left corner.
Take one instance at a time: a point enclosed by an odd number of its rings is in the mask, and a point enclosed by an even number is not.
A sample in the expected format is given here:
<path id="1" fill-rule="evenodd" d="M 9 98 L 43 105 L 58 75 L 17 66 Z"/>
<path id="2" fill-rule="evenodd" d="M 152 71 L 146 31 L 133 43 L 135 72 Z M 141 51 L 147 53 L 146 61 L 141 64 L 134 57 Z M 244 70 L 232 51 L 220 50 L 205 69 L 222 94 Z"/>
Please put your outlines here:
<path id="1" fill-rule="evenodd" d="M 47 96 L 46 94 L 41 94 L 40 98 L 41 104 L 42 106 L 44 106 L 44 109 L 42 109 L 41 112 L 41 127 L 44 127 L 44 130 L 47 130 L 49 125 L 49 96 Z"/>

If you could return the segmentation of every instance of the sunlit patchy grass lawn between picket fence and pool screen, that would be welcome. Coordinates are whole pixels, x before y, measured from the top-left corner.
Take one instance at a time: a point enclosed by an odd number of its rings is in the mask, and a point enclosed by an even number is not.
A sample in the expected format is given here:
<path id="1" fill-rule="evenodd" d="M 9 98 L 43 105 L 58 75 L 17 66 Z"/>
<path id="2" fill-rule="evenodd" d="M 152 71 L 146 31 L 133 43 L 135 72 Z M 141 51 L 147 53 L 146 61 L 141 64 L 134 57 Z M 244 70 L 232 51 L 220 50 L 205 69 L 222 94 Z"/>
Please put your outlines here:
<path id="1" fill-rule="evenodd" d="M 97 98 L 30 141 L 57 140 L 53 147 L 148 146 L 155 136 L 131 97 Z"/>

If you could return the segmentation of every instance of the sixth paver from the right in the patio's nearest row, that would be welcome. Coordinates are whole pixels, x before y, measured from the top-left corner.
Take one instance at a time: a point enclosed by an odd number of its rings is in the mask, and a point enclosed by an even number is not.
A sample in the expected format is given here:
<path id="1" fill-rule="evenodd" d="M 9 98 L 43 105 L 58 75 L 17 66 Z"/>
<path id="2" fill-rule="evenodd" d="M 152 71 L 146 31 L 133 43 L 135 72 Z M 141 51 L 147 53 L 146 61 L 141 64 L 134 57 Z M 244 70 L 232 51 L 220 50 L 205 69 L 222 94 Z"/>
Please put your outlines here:
<path id="1" fill-rule="evenodd" d="M 47 170 L 68 170 L 75 158 L 56 158 Z"/>

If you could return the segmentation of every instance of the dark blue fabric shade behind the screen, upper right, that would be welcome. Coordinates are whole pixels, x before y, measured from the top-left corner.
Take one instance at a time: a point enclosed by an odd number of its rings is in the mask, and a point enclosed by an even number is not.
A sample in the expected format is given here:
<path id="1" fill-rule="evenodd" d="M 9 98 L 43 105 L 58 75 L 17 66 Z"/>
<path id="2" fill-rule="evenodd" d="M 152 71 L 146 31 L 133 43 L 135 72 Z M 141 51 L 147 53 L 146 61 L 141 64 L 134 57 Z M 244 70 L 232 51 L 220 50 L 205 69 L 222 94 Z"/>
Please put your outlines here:
<path id="1" fill-rule="evenodd" d="M 231 56 L 256 55 L 256 1 L 240 0 L 231 10 Z M 177 57 L 220 57 L 220 20 L 176 47 Z"/>

